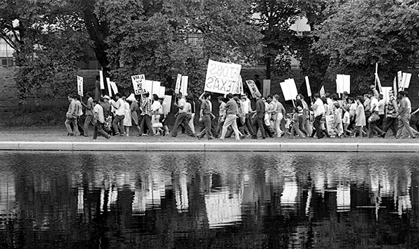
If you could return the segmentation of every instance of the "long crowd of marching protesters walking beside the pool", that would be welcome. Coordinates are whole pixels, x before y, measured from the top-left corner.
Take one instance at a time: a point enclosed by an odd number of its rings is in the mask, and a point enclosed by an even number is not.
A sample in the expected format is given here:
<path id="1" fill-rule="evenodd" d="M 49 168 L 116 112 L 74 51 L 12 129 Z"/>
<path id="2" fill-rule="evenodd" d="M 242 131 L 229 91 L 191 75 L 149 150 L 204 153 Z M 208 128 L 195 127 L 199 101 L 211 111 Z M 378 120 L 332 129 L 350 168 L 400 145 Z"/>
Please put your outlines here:
<path id="1" fill-rule="evenodd" d="M 411 119 L 411 102 L 406 91 L 400 91 L 395 96 L 390 91 L 388 101 L 378 94 L 374 86 L 371 92 L 355 98 L 343 94 L 338 100 L 337 94 L 326 93 L 325 96 L 314 94 L 314 103 L 307 105 L 304 96 L 298 95 L 293 112 L 287 114 L 284 105 L 279 102 L 279 96 L 256 95 L 251 101 L 247 94 L 228 93 L 217 98 L 219 103 L 218 117 L 214 115 L 210 93 L 199 97 L 200 108 L 198 120 L 200 131 L 196 133 L 194 126 L 196 103 L 192 96 L 177 94 L 175 107 L 176 121 L 170 135 L 176 137 L 179 126 L 186 135 L 208 139 L 235 137 L 236 140 L 251 136 L 257 139 L 258 130 L 263 139 L 266 137 L 290 138 L 360 136 L 385 137 L 389 129 L 396 138 L 404 134 L 415 138 L 418 131 L 409 125 Z M 89 137 L 89 126 L 94 127 L 93 138 L 101 135 L 107 139 L 111 135 L 129 136 L 131 128 L 141 136 L 169 135 L 167 118 L 168 105 L 156 94 L 142 94 L 137 100 L 134 94 L 126 98 L 117 93 L 115 98 L 103 96 L 98 100 L 87 93 L 87 103 L 76 97 L 68 96 L 70 106 L 66 114 L 68 135 L 84 135 Z M 253 102 L 253 103 L 252 103 Z M 253 106 L 253 108 L 252 108 Z M 80 116 L 84 110 L 84 126 L 80 125 Z M 419 109 L 416 110 L 419 112 Z M 413 112 L 412 114 L 415 114 Z M 326 122 L 326 117 L 329 121 Z"/>

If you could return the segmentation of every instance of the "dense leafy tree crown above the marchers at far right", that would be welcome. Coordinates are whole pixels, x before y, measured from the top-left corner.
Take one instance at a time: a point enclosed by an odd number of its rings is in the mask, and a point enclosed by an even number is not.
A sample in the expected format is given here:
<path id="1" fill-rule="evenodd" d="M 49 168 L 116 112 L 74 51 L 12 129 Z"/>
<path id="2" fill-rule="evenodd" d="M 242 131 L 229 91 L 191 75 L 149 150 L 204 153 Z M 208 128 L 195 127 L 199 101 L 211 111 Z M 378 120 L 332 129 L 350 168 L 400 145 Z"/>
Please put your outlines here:
<path id="1" fill-rule="evenodd" d="M 375 63 L 388 81 L 413 65 L 418 27 L 416 1 L 351 0 L 318 26 L 314 48 L 330 56 L 332 70 L 351 74 L 351 91 L 360 92 L 374 83 Z"/>

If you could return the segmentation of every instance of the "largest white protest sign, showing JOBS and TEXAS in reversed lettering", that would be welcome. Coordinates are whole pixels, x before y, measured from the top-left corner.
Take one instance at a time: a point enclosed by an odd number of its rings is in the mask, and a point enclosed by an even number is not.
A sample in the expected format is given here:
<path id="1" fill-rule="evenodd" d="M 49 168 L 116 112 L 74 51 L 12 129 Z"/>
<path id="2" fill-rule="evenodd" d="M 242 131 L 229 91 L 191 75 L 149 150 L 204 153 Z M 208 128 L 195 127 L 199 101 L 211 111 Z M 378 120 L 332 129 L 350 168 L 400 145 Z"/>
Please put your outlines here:
<path id="1" fill-rule="evenodd" d="M 213 93 L 232 93 L 237 86 L 240 70 L 242 65 L 239 64 L 209 60 L 204 90 Z"/>

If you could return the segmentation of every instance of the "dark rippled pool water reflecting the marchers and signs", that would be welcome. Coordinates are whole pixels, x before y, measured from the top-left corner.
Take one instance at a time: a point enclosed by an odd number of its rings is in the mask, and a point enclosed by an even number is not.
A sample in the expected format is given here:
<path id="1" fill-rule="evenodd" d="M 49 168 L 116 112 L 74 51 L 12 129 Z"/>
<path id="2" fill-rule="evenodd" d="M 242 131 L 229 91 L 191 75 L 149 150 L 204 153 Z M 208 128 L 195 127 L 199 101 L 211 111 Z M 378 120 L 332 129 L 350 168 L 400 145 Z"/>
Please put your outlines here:
<path id="1" fill-rule="evenodd" d="M 0 248 L 418 248 L 415 153 L 0 153 Z"/>

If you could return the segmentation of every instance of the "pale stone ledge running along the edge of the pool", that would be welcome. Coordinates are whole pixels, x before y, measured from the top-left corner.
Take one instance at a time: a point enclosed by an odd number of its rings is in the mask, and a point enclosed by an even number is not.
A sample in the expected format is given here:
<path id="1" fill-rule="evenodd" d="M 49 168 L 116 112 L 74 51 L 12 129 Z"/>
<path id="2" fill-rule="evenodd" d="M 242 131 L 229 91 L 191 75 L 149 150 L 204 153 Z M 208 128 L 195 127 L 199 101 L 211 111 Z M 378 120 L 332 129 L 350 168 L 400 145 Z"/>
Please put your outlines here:
<path id="1" fill-rule="evenodd" d="M 0 142 L 0 151 L 344 151 L 419 152 L 419 144 L 272 142 Z"/>

